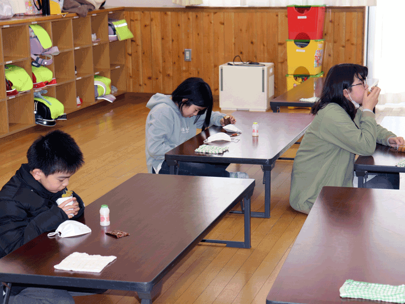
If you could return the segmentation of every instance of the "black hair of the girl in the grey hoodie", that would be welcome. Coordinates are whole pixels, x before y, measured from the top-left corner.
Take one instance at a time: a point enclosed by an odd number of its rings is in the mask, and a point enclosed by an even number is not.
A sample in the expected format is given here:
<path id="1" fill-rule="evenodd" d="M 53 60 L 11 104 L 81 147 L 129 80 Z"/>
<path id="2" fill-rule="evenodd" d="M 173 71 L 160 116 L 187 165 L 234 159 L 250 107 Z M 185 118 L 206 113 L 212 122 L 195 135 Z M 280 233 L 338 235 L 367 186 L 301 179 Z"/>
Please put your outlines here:
<path id="1" fill-rule="evenodd" d="M 183 99 L 187 99 L 187 101 L 183 101 Z M 194 104 L 200 107 L 205 107 L 204 110 L 198 112 L 194 124 L 199 117 L 207 111 L 202 130 L 204 131 L 209 127 L 213 98 L 211 88 L 204 80 L 197 77 L 187 78 L 173 91 L 172 100 L 177 103 L 181 113 L 183 113 L 183 106 Z"/>

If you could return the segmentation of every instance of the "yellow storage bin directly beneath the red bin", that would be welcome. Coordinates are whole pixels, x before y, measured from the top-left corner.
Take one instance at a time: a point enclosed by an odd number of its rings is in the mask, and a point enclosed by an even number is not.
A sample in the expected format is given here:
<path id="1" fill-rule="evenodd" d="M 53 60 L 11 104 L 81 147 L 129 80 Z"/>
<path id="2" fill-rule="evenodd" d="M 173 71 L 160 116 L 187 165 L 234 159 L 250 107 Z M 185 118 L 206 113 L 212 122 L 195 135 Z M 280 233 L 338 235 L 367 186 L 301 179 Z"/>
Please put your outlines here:
<path id="1" fill-rule="evenodd" d="M 325 40 L 287 40 L 288 73 L 316 75 L 322 70 Z"/>

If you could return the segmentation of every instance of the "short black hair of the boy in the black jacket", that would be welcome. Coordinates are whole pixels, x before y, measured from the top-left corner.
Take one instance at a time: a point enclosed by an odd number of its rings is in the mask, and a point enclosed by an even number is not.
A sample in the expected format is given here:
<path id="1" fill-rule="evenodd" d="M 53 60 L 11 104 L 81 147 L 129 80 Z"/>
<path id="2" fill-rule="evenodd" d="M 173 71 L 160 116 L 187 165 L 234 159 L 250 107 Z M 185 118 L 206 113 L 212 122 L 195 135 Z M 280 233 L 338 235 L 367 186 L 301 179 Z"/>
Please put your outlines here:
<path id="1" fill-rule="evenodd" d="M 36 139 L 27 151 L 27 159 L 31 171 L 40 169 L 46 176 L 75 173 L 84 164 L 83 153 L 74 139 L 60 130 Z"/>

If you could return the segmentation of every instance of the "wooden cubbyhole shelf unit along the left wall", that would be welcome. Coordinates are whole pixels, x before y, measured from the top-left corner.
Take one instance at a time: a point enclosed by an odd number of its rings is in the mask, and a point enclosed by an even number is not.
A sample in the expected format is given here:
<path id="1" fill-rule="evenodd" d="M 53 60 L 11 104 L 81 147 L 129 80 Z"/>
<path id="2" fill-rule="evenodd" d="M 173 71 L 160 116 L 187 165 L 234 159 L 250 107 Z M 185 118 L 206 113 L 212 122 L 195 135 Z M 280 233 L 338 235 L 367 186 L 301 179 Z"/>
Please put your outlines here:
<path id="1" fill-rule="evenodd" d="M 111 85 L 118 93 L 127 91 L 125 77 L 125 52 L 127 41 L 108 40 L 108 19 L 124 19 L 124 7 L 107 7 L 89 12 L 85 17 L 76 14 L 54 16 L 19 16 L 0 22 L 0 137 L 20 132 L 35 126 L 32 89 L 15 96 L 7 96 L 5 65 L 23 67 L 32 74 L 29 44 L 29 25 L 39 24 L 50 35 L 52 45 L 60 54 L 53 56 L 52 70 L 57 84 L 48 86 L 46 96 L 57 98 L 63 103 L 65 113 L 93 105 L 94 75 L 111 79 Z M 93 42 L 92 34 L 100 41 Z M 76 72 L 75 72 L 76 71 Z M 83 99 L 76 104 L 76 97 Z M 69 116 L 68 116 L 69 118 Z M 63 121 L 58 121 L 63 124 Z"/>

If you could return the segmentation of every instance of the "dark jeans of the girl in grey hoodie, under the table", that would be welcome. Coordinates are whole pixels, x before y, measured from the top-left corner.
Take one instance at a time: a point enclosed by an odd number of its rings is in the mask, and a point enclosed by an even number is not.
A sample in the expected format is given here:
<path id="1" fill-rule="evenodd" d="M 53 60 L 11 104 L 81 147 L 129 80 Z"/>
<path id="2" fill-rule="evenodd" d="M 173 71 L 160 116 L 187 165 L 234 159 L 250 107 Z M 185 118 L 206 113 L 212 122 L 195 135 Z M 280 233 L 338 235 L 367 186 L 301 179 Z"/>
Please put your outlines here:
<path id="1" fill-rule="evenodd" d="M 179 162 L 179 175 L 229 177 L 229 172 L 225 170 L 228 166 L 229 164 L 221 163 Z M 152 169 L 152 173 L 156 173 L 154 169 Z M 170 174 L 166 161 L 161 164 L 159 174 Z"/>

